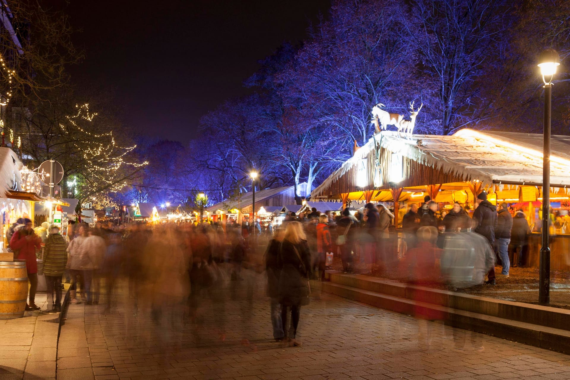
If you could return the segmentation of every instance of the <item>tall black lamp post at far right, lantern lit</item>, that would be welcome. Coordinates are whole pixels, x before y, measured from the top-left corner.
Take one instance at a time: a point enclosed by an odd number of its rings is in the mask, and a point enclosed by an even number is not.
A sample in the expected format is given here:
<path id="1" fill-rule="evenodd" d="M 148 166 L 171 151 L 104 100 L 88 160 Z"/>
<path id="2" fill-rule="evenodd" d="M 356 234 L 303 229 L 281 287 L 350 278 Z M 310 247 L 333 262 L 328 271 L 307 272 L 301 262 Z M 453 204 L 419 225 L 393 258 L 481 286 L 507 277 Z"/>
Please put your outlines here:
<path id="1" fill-rule="evenodd" d="M 552 102 L 552 79 L 560 56 L 554 49 L 544 50 L 539 57 L 538 67 L 544 81 L 544 132 L 542 166 L 542 246 L 540 248 L 540 273 L 538 301 L 550 303 L 550 115 Z"/>

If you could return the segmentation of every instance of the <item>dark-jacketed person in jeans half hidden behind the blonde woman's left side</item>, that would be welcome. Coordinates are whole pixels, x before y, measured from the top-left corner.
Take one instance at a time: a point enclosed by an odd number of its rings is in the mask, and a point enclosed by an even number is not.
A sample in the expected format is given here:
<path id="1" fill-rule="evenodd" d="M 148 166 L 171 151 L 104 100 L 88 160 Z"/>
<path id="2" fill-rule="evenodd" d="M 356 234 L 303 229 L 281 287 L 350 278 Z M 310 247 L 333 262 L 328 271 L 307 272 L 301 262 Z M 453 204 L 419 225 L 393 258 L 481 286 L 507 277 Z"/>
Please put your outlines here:
<path id="1" fill-rule="evenodd" d="M 275 237 L 270 240 L 265 252 L 265 271 L 267 273 L 267 295 L 270 298 L 271 325 L 273 326 L 273 338 L 276 342 L 282 342 L 285 338 L 283 323 L 281 321 L 281 304 L 279 303 L 279 275 L 281 273 L 278 259 L 279 250 L 285 235 L 284 228 L 275 231 Z"/>

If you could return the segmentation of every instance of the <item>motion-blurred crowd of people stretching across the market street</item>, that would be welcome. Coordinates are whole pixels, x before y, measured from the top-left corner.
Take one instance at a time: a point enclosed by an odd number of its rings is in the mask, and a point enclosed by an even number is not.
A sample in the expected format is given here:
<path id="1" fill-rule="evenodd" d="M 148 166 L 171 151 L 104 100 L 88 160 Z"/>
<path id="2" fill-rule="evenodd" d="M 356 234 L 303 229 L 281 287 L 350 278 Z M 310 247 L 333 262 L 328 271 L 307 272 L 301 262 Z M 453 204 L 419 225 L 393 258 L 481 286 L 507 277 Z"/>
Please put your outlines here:
<path id="1" fill-rule="evenodd" d="M 46 278 L 45 312 L 61 310 L 63 281 L 70 284 L 72 304 L 101 302 L 104 312 L 112 312 L 117 284 L 123 281 L 133 315 L 144 310 L 156 323 L 173 315 L 178 322 L 197 322 L 206 299 L 215 301 L 215 307 L 222 309 L 218 314 L 225 315 L 227 294 L 222 289 L 231 281 L 235 285 L 243 281 L 247 276 L 242 269 L 247 267 L 266 272 L 275 340 L 298 346 L 300 310 L 310 299 L 310 280 L 324 280 L 335 256 L 340 256 L 346 273 L 389 271 L 396 264 L 406 268 L 410 283 L 456 288 L 495 284 L 497 259 L 502 263 L 499 276 L 508 276 L 508 247 L 514 245 L 519 255 L 514 264 L 520 260 L 528 233 L 521 212 L 513 218 L 504 203 L 497 210 L 484 193 L 473 212 L 455 203 L 453 209 L 439 213 L 436 202 L 429 197 L 424 201 L 403 214 L 400 244 L 397 238 L 394 241 L 394 211 L 372 203 L 339 214 L 316 209 L 307 215 L 291 213 L 279 225 L 263 227 L 259 219 L 251 225 L 224 227 L 211 221 L 120 226 L 70 222 L 66 236 L 58 226 L 44 223 L 34 230 L 31 220 L 20 219 L 6 235 L 9 250 L 28 263 L 28 310 L 39 309 L 35 304 L 39 273 Z M 257 285 L 248 286 L 251 302 Z M 416 314 L 442 319 L 422 315 L 421 310 Z M 223 339 L 223 322 L 216 331 Z"/>

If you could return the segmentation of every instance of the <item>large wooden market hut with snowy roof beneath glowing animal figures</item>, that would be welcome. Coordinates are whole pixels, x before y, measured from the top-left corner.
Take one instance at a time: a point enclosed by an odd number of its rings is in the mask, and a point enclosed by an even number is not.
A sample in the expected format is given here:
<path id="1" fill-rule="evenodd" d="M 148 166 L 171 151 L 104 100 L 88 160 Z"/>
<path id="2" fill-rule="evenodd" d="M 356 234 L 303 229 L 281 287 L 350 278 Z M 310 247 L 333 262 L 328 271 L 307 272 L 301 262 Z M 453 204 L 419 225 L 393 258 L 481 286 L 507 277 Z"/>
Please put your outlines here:
<path id="1" fill-rule="evenodd" d="M 570 201 L 568 152 L 570 137 L 552 136 L 551 201 L 561 207 Z M 311 199 L 393 202 L 397 226 L 402 203 L 421 203 L 427 194 L 444 207 L 454 201 L 472 205 L 486 190 L 492 202 L 528 205 L 532 225 L 540 219 L 532 202 L 541 201 L 542 161 L 539 134 L 462 129 L 451 136 L 408 139 L 382 131 L 313 190 Z M 529 264 L 538 265 L 540 234 L 532 235 Z M 552 269 L 570 269 L 569 248 L 570 235 L 552 238 Z"/>

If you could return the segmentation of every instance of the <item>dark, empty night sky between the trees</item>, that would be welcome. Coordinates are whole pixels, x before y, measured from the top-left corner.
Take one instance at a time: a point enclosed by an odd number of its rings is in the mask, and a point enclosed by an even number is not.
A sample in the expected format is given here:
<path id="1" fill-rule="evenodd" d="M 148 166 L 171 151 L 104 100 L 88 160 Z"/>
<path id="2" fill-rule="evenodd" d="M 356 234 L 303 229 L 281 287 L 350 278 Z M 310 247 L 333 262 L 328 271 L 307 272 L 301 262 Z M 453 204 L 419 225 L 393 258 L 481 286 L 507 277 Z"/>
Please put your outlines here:
<path id="1" fill-rule="evenodd" d="M 125 124 L 187 142 L 200 117 L 245 95 L 257 61 L 306 37 L 330 0 L 71 1 L 64 7 L 86 59 L 72 81 L 116 96 Z"/>

